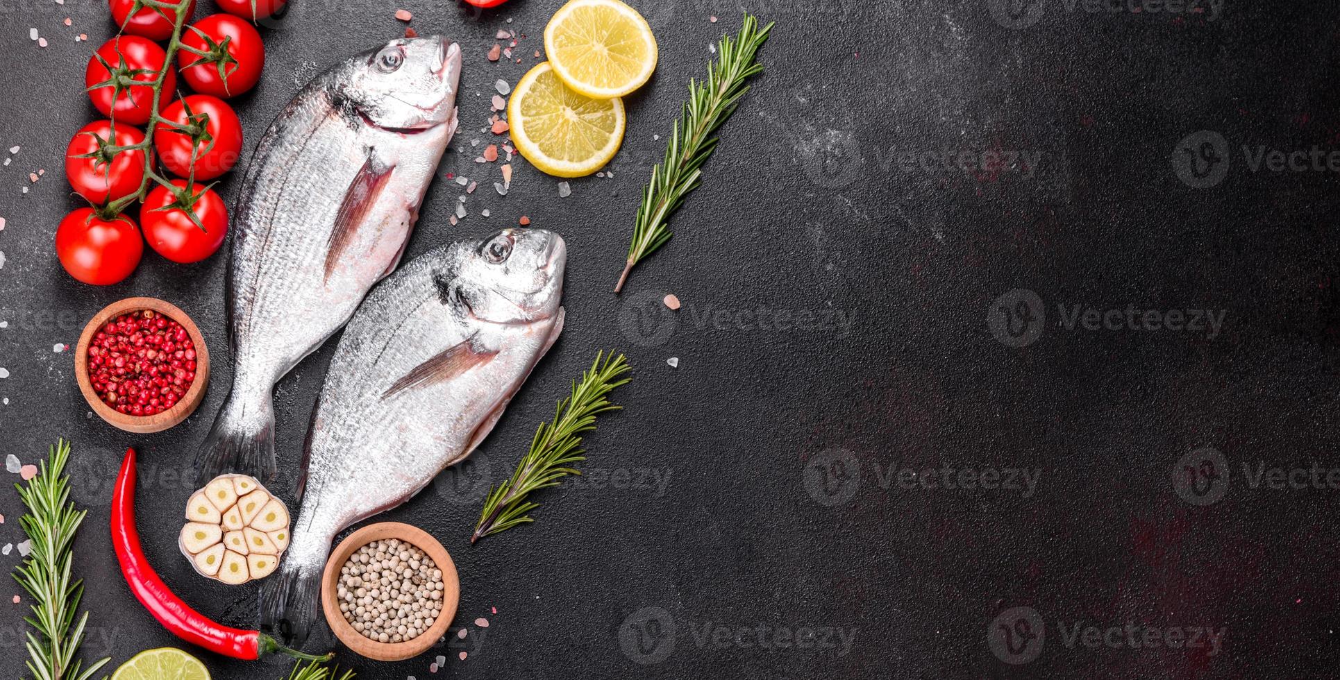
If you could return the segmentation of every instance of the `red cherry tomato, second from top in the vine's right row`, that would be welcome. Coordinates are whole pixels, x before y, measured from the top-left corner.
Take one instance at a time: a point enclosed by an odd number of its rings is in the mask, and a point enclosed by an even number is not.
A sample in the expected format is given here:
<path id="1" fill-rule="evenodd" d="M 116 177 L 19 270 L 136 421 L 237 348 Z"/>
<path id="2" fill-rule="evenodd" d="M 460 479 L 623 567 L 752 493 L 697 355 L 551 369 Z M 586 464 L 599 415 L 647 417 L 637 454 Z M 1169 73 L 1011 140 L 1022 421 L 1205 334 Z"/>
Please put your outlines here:
<path id="1" fill-rule="evenodd" d="M 228 40 L 226 46 L 224 40 Z M 210 54 L 202 58 L 186 50 L 177 52 L 181 76 L 202 95 L 240 95 L 256 87 L 260 70 L 265 66 L 265 44 L 260 33 L 233 15 L 210 15 L 196 21 L 181 33 L 181 44 Z M 218 76 L 220 63 L 224 64 L 225 78 Z"/>

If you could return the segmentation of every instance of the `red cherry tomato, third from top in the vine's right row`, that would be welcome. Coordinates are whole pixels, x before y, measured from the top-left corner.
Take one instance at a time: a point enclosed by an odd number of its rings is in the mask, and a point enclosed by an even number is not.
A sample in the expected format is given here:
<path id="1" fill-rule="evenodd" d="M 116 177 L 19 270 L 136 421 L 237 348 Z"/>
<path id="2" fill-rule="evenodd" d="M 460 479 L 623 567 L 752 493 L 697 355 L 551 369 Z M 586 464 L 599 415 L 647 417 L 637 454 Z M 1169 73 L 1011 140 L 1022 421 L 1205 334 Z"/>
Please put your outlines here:
<path id="1" fill-rule="evenodd" d="M 189 95 L 168 104 L 161 115 L 163 120 L 189 129 L 182 131 L 162 123 L 154 129 L 154 149 L 168 170 L 188 177 L 192 147 L 196 149 L 196 179 L 213 179 L 237 165 L 243 153 L 243 123 L 222 99 Z"/>

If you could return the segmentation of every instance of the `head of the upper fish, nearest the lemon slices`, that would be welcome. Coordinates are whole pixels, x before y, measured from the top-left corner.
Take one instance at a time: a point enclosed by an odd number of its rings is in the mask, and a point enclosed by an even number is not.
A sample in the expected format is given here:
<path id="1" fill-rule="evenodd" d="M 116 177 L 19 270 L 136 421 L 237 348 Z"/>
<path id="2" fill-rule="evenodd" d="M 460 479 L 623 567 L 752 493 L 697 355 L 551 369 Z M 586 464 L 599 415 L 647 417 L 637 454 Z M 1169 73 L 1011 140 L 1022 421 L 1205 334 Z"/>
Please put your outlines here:
<path id="1" fill-rule="evenodd" d="M 377 127 L 419 131 L 456 115 L 461 46 L 441 36 L 401 37 L 346 63 L 338 91 Z"/>

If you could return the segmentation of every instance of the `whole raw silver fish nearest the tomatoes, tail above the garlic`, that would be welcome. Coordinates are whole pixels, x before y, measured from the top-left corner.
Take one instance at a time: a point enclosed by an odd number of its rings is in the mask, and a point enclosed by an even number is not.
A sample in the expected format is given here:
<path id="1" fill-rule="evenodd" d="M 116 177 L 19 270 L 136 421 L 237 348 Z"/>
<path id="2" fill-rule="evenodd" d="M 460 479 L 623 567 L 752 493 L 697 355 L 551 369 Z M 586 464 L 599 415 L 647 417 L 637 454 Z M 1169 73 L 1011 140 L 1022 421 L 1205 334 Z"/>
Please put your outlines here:
<path id="1" fill-rule="evenodd" d="M 202 479 L 275 475 L 275 383 L 395 269 L 456 131 L 461 50 L 399 39 L 316 76 L 247 169 L 228 319 L 233 387 L 196 459 Z"/>

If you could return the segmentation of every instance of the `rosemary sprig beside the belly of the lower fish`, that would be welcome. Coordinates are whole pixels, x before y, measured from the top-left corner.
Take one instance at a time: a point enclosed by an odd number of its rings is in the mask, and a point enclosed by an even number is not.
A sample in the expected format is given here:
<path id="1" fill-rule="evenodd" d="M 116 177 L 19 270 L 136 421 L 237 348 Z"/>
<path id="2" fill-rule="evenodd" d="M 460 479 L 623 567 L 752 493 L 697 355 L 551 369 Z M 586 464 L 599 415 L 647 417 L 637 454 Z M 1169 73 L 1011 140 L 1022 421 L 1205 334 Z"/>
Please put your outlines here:
<path id="1" fill-rule="evenodd" d="M 604 363 L 600 361 L 602 357 Z M 531 450 L 521 458 L 512 478 L 489 489 L 480 522 L 470 537 L 472 543 L 485 535 L 533 522 L 527 513 L 540 507 L 540 503 L 527 498 L 531 491 L 557 486 L 564 475 L 582 474 L 571 467 L 586 460 L 580 435 L 595 430 L 598 414 L 623 408 L 610 403 L 606 395 L 630 380 L 620 377 L 627 372 L 628 361 L 623 355 L 596 352 L 591 369 L 582 373 L 582 383 L 574 381 L 572 395 L 559 400 L 553 423 L 540 423 L 531 440 Z"/>

